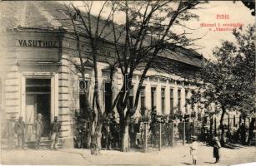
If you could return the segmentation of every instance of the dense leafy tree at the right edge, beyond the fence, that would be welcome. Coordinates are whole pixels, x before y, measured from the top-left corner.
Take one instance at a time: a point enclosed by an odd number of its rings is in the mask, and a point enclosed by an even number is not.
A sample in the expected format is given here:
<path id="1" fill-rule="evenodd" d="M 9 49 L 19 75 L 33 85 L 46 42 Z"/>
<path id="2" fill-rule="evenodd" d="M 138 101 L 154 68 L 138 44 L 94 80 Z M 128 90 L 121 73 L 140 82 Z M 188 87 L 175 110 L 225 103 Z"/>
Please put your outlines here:
<path id="1" fill-rule="evenodd" d="M 218 105 L 222 129 L 223 115 L 228 111 L 238 111 L 245 117 L 254 109 L 254 27 L 235 29 L 233 37 L 235 41 L 223 41 L 215 48 L 216 61 L 208 61 L 199 76 L 203 97 Z"/>

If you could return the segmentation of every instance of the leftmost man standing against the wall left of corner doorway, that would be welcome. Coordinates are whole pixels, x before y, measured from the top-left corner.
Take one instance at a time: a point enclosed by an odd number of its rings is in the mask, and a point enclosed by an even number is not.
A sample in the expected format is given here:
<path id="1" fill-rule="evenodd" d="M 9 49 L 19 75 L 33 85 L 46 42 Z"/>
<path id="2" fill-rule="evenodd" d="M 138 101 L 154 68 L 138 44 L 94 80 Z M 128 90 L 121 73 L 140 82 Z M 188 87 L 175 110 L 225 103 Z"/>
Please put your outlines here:
<path id="1" fill-rule="evenodd" d="M 15 136 L 15 115 L 11 115 L 11 119 L 8 120 L 8 149 L 13 149 L 14 147 L 14 136 Z"/>

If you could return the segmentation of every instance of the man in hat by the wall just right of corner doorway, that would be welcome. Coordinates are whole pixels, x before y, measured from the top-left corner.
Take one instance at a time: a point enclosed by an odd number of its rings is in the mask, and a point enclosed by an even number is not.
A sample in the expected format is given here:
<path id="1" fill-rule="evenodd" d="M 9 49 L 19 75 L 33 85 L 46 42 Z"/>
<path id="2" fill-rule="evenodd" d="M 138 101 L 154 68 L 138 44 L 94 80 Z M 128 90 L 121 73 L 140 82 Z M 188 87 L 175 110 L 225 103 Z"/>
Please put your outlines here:
<path id="1" fill-rule="evenodd" d="M 51 124 L 51 149 L 57 149 L 56 144 L 58 143 L 58 136 L 60 133 L 61 124 L 58 121 L 58 116 L 54 116 L 53 123 Z"/>

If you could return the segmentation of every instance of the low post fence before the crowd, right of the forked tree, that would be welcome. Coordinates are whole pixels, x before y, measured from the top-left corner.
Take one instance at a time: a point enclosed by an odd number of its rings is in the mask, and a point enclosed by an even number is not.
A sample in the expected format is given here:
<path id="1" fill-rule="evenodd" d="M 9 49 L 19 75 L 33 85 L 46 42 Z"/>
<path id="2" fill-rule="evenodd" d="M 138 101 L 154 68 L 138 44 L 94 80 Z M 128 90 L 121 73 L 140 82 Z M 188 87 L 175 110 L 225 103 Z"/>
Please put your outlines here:
<path id="1" fill-rule="evenodd" d="M 138 147 L 143 151 L 174 147 L 179 144 L 190 144 L 191 136 L 200 136 L 201 125 L 195 122 L 143 124 L 137 134 Z"/>

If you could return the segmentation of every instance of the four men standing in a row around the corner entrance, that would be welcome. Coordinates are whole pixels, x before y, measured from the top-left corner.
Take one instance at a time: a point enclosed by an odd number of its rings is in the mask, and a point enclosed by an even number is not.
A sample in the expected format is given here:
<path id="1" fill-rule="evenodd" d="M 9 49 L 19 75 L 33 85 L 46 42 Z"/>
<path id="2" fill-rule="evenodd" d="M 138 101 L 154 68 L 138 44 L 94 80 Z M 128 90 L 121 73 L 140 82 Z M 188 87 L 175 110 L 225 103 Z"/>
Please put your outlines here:
<path id="1" fill-rule="evenodd" d="M 17 134 L 18 149 L 25 149 L 25 139 L 28 134 L 28 127 L 23 120 L 23 116 L 15 120 L 15 115 L 11 115 L 11 119 L 8 120 L 7 126 L 7 139 L 8 139 L 8 149 L 15 148 L 15 138 Z M 36 120 L 33 124 L 33 134 L 35 136 L 35 149 L 39 149 L 41 137 L 43 136 L 43 115 L 38 114 Z M 60 134 L 61 124 L 58 121 L 58 116 L 54 117 L 53 123 L 50 125 L 50 137 L 51 137 L 51 147 L 50 149 L 57 149 L 58 136 Z"/>

